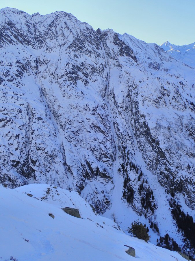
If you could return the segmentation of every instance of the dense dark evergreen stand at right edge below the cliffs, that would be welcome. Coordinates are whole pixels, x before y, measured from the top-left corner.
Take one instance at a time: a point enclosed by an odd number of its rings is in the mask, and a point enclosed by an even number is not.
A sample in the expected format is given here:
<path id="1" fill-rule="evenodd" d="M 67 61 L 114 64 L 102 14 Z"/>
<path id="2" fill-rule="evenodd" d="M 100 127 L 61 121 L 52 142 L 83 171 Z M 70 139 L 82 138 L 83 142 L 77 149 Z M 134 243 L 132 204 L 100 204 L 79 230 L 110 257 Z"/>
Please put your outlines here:
<path id="1" fill-rule="evenodd" d="M 184 237 L 186 237 L 193 248 L 195 248 L 195 223 L 191 215 L 185 214 L 181 210 L 181 205 L 176 203 L 174 199 L 171 199 L 170 207 L 172 208 L 171 213 L 173 219 L 176 221 L 177 227 L 183 232 Z"/>

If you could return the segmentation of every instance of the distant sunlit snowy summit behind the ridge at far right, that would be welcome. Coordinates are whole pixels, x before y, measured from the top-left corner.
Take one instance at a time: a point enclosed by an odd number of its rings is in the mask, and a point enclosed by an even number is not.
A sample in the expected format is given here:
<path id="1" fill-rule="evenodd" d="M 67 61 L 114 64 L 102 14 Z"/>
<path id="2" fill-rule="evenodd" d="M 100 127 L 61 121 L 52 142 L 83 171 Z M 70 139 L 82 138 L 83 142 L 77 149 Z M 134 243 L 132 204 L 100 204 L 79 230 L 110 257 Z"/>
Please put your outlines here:
<path id="1" fill-rule="evenodd" d="M 166 41 L 160 45 L 163 50 L 170 53 L 175 59 L 180 59 L 185 64 L 195 67 L 195 42 L 185 45 L 174 45 Z"/>

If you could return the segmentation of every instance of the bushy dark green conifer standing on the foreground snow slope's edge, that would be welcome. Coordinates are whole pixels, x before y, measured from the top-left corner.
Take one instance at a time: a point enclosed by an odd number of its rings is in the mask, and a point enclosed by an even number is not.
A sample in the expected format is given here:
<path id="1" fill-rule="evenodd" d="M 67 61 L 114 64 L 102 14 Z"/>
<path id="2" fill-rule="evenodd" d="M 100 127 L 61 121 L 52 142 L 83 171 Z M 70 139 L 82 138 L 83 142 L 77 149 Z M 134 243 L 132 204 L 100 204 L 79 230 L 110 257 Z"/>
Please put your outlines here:
<path id="1" fill-rule="evenodd" d="M 140 223 L 139 220 L 134 220 L 134 222 L 131 223 L 131 227 L 128 227 L 127 232 L 131 233 L 133 237 L 143 239 L 146 242 L 150 240 L 150 236 L 147 233 L 146 227 Z"/>

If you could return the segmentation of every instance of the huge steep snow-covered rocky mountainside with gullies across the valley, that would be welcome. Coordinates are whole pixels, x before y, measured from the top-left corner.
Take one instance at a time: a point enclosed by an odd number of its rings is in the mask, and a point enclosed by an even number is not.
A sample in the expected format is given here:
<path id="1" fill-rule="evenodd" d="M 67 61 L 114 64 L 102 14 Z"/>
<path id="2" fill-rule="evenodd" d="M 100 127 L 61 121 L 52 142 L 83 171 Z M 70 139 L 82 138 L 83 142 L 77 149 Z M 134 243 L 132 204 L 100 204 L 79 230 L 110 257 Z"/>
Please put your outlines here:
<path id="1" fill-rule="evenodd" d="M 66 12 L 0 12 L 1 183 L 73 189 L 193 255 L 170 203 L 195 220 L 193 63 Z"/>

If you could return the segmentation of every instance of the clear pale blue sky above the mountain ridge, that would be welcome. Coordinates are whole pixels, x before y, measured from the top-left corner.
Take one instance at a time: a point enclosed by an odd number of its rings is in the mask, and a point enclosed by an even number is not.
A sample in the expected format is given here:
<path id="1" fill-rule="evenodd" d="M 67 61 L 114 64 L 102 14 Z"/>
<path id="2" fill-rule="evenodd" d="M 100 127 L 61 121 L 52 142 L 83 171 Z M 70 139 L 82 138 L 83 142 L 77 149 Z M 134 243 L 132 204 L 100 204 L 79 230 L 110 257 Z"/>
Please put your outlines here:
<path id="1" fill-rule="evenodd" d="M 195 42 L 195 0 L 0 0 L 0 9 L 29 14 L 65 11 L 97 28 L 127 32 L 147 43 Z"/>

